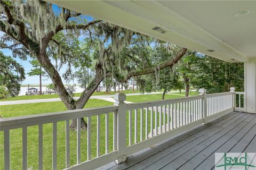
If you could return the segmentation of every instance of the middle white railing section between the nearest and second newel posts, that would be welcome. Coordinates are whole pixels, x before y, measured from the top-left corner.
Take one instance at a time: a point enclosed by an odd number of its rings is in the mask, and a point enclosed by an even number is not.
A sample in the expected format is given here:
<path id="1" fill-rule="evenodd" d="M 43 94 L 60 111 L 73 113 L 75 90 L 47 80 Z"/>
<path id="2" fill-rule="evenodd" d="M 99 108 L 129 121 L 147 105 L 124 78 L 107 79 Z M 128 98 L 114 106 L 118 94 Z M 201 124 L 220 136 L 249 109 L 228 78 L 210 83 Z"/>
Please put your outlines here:
<path id="1" fill-rule="evenodd" d="M 203 96 L 197 96 L 127 104 L 129 143 L 126 155 L 204 123 L 202 99 Z"/>

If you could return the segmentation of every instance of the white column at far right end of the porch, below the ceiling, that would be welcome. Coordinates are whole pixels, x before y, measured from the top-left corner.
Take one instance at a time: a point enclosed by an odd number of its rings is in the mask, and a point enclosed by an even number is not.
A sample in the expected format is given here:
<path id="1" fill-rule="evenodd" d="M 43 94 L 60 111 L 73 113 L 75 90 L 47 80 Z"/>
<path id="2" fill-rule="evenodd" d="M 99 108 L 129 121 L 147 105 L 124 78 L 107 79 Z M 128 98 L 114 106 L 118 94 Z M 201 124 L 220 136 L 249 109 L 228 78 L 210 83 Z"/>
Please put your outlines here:
<path id="1" fill-rule="evenodd" d="M 244 108 L 256 113 L 256 61 L 244 63 Z"/>

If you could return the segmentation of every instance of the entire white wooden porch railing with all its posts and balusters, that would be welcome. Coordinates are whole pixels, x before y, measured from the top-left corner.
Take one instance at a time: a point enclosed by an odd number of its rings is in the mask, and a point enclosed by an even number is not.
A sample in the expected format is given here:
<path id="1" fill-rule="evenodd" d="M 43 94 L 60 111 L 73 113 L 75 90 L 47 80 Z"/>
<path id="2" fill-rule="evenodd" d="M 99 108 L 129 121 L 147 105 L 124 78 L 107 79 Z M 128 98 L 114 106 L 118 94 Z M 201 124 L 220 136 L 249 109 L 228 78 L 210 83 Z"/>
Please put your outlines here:
<path id="1" fill-rule="evenodd" d="M 10 169 L 10 131 L 22 129 L 22 168 L 27 169 L 27 129 L 38 127 L 38 169 L 43 169 L 43 125 L 52 124 L 52 169 L 57 169 L 57 122 L 65 122 L 66 169 L 94 169 L 110 162 L 122 163 L 126 157 L 137 151 L 162 142 L 174 135 L 205 124 L 231 111 L 242 111 L 243 92 L 223 92 L 179 99 L 125 104 L 126 96 L 116 94 L 115 106 L 87 108 L 31 116 L 3 118 L 0 130 L 4 131 L 4 168 Z M 238 95 L 238 107 L 236 96 Z M 111 118 L 109 116 L 111 115 Z M 87 122 L 87 160 L 81 161 L 81 127 L 76 130 L 76 164 L 70 165 L 70 120 L 81 117 Z M 92 118 L 96 123 L 96 155 L 92 156 Z M 102 127 L 102 118 L 103 121 Z M 103 129 L 103 133 L 102 133 Z M 111 133 L 110 133 L 111 132 Z M 111 134 L 111 135 L 110 135 Z M 102 142 L 103 141 L 103 142 Z M 102 146 L 102 143 L 104 145 Z M 110 143 L 111 151 L 109 149 Z M 102 154 L 101 147 L 105 148 Z M 101 155 L 102 154 L 102 155 Z"/>

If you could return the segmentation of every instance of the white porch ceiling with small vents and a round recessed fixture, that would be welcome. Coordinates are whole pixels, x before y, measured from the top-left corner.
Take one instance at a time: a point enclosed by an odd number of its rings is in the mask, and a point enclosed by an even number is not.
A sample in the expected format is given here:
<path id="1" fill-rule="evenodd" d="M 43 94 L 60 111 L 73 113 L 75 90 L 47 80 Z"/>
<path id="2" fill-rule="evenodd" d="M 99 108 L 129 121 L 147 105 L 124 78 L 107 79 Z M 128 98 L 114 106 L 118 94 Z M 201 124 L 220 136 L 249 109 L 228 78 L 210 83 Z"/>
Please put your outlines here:
<path id="1" fill-rule="evenodd" d="M 256 58 L 256 1 L 47 2 L 228 62 Z M 234 16 L 241 10 L 250 13 Z"/>

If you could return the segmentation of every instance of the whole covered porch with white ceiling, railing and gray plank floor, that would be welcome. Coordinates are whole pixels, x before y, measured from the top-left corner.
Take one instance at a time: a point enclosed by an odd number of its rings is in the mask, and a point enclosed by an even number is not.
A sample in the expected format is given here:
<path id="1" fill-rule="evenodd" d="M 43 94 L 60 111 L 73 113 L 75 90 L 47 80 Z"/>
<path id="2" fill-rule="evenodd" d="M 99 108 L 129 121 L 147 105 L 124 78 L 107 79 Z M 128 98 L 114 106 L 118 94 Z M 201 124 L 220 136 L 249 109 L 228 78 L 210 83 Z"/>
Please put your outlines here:
<path id="1" fill-rule="evenodd" d="M 22 131 L 22 168 L 28 168 L 30 126 L 38 130 L 38 143 L 34 143 L 38 169 L 44 169 L 43 152 L 47 151 L 52 151 L 50 164 L 57 169 L 60 123 L 64 124 L 60 133 L 65 142 L 65 169 L 214 169 L 215 152 L 256 152 L 255 2 L 47 2 L 220 60 L 244 62 L 245 90 L 206 94 L 200 89 L 196 97 L 132 104 L 124 102 L 124 94 L 116 94 L 114 106 L 3 118 L 4 169 L 10 169 L 10 132 L 14 129 Z M 244 19 L 235 16 L 249 12 L 252 15 Z M 81 117 L 87 122 L 86 138 L 81 139 L 77 126 L 76 155 L 71 155 L 69 124 L 75 119 L 80 124 Z M 95 126 L 92 119 L 97 120 Z M 51 150 L 44 150 L 45 124 L 52 125 Z"/>

